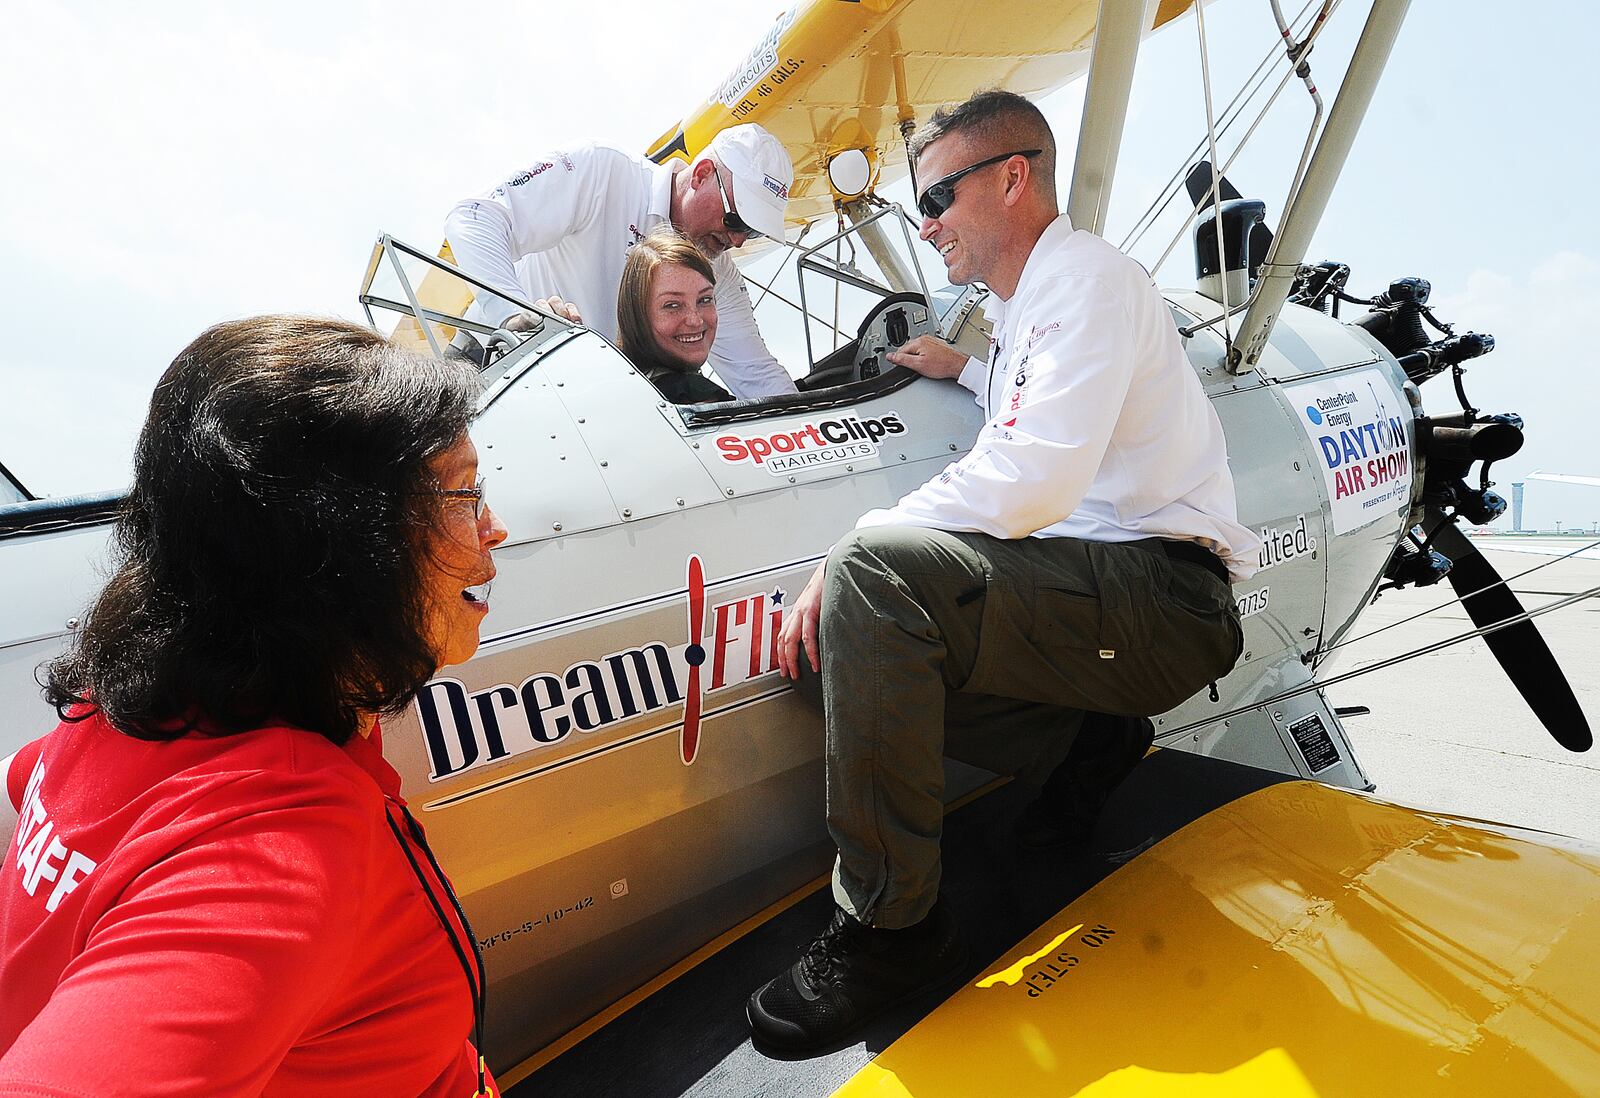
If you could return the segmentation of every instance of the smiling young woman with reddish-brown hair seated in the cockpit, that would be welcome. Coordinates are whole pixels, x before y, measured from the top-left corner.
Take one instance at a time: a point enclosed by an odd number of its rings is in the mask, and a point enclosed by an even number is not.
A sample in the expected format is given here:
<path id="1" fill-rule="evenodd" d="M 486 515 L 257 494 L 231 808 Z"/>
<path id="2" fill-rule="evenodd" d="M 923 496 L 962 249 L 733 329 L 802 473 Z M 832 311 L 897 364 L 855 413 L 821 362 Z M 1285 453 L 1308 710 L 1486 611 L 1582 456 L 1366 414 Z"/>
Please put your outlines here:
<path id="1" fill-rule="evenodd" d="M 672 403 L 733 400 L 701 373 L 717 338 L 710 261 L 672 229 L 656 229 L 627 254 L 616 295 L 616 343 Z"/>

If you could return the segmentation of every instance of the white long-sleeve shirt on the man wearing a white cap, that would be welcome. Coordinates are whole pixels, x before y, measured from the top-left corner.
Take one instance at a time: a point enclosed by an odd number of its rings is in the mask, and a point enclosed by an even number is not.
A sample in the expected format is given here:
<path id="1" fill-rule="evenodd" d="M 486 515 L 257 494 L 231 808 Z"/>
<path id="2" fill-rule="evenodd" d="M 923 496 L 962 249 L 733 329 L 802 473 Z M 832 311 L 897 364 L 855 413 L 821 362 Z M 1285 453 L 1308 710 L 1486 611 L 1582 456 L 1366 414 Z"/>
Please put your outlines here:
<path id="1" fill-rule="evenodd" d="M 579 146 L 550 152 L 478 198 L 456 203 L 445 238 L 456 266 L 528 301 L 560 295 L 584 325 L 616 341 L 616 291 L 627 250 L 672 214 L 672 165 L 621 149 Z M 717 274 L 717 339 L 710 368 L 736 397 L 795 392 L 766 349 L 744 277 L 723 253 Z M 504 298 L 475 304 L 490 323 L 517 307 Z"/>

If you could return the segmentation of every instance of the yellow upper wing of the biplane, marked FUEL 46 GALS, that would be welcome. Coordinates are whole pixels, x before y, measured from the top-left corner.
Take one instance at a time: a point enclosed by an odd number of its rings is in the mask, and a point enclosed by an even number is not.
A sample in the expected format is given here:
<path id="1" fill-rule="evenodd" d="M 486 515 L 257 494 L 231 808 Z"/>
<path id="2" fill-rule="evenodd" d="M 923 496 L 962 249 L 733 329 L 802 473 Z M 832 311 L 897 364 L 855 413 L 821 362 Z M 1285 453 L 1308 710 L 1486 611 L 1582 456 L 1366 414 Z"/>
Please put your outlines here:
<path id="1" fill-rule="evenodd" d="M 1192 0 L 1163 0 L 1154 26 Z M 650 147 L 693 158 L 718 130 L 758 122 L 795 163 L 789 219 L 830 216 L 827 155 L 870 144 L 878 186 L 906 174 L 901 120 L 1002 86 L 1037 98 L 1088 70 L 1099 0 L 802 0 Z M 1070 149 L 1066 150 L 1070 160 Z"/>

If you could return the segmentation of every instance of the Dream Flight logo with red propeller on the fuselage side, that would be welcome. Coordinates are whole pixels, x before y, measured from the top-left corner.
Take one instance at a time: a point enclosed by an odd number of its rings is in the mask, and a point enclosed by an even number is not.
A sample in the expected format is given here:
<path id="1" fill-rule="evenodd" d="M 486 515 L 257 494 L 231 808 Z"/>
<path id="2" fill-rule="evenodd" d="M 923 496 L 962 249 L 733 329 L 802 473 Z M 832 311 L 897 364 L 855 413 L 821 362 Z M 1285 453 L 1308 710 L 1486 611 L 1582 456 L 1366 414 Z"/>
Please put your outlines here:
<path id="1" fill-rule="evenodd" d="M 699 752 L 702 695 L 778 671 L 782 587 L 741 595 L 706 610 L 699 557 L 688 559 L 686 640 L 645 643 L 563 671 L 541 671 L 520 683 L 469 691 L 435 679 L 416 696 L 427 746 L 429 781 L 541 751 L 571 736 L 602 733 L 624 720 L 682 706 L 678 755 Z M 710 634 L 706 635 L 706 626 Z"/>

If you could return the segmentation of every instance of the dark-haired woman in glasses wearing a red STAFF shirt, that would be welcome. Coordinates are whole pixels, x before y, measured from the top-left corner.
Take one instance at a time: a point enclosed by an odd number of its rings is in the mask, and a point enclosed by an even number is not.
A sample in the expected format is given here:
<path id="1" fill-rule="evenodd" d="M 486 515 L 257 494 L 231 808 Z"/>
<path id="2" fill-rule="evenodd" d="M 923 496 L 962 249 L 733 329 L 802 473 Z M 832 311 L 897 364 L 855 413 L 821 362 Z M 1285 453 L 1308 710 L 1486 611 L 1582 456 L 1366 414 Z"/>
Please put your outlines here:
<path id="1" fill-rule="evenodd" d="M 48 669 L 62 722 L 6 773 L 0 1095 L 496 1093 L 482 960 L 378 725 L 478 643 L 506 528 L 477 394 L 301 317 L 163 375 Z"/>

